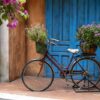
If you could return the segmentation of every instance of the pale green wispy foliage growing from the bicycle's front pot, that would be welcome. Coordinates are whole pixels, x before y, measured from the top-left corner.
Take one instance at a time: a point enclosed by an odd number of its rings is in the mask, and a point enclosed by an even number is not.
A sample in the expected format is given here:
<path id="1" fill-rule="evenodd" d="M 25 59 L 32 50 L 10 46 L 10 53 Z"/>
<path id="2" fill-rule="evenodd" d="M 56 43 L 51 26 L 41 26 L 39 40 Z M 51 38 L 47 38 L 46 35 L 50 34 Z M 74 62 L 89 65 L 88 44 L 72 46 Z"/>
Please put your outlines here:
<path id="1" fill-rule="evenodd" d="M 46 44 L 47 32 L 44 25 L 36 24 L 33 27 L 26 28 L 26 32 L 31 40 L 41 44 Z"/>

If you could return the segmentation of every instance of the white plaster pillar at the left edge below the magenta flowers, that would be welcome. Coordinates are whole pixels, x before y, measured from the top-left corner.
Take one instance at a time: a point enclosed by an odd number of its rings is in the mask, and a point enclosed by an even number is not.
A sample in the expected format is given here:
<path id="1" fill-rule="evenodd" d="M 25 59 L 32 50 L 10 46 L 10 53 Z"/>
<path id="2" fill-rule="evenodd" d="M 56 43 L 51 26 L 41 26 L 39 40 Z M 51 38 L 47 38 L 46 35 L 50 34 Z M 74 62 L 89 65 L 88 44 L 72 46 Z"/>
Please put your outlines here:
<path id="1" fill-rule="evenodd" d="M 0 82 L 9 80 L 9 29 L 8 21 L 0 26 Z"/>

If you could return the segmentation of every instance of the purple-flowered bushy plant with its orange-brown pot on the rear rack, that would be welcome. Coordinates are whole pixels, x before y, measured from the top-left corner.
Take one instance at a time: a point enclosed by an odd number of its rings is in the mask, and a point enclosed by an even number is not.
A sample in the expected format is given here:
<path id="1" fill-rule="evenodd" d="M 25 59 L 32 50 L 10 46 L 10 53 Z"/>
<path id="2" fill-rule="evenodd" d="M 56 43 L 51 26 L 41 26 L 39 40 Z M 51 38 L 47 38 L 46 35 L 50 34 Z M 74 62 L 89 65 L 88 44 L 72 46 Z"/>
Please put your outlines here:
<path id="1" fill-rule="evenodd" d="M 84 53 L 94 53 L 100 47 L 100 24 L 83 25 L 78 29 L 77 39 Z"/>

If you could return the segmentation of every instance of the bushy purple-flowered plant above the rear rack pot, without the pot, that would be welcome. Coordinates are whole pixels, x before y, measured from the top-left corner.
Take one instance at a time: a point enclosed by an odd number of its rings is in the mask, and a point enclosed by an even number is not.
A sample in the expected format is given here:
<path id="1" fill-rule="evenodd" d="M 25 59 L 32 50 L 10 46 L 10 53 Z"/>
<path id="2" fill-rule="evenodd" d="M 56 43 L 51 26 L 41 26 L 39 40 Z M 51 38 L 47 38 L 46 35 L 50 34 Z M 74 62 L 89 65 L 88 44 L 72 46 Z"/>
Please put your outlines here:
<path id="1" fill-rule="evenodd" d="M 95 45 L 100 47 L 100 24 L 83 25 L 78 29 L 77 39 L 86 44 L 86 48 Z"/>

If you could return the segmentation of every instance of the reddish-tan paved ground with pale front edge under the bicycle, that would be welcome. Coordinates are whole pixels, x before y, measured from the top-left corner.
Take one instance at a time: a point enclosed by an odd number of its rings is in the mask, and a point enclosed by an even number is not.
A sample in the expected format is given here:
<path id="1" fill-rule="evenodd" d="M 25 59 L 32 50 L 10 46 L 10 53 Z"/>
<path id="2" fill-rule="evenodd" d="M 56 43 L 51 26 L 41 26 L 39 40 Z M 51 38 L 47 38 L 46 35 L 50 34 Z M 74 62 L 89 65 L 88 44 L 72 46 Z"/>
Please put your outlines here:
<path id="1" fill-rule="evenodd" d="M 67 84 L 68 83 L 68 84 Z M 24 87 L 22 81 L 20 79 L 8 82 L 8 83 L 0 83 L 0 96 L 9 97 L 7 95 L 17 94 L 17 96 L 30 96 L 33 97 L 34 100 L 100 100 L 100 92 L 91 92 L 91 93 L 76 93 L 72 88 L 72 84 L 70 82 L 66 82 L 65 80 L 59 79 L 55 80 L 53 85 L 44 92 L 31 92 Z M 7 93 L 5 96 L 1 93 Z M 8 94 L 9 93 L 9 94 Z M 13 96 L 14 96 L 13 95 Z M 20 97 L 21 98 L 21 97 Z M 41 99 L 40 99 L 41 98 Z M 6 98 L 7 99 L 7 98 Z M 0 99 L 0 100 L 6 100 Z M 9 99 L 10 100 L 10 99 Z M 17 99 L 14 99 L 17 100 Z M 18 99 L 20 100 L 20 99 Z M 26 99 L 23 99 L 26 100 Z M 33 99 L 28 99 L 33 100 Z"/>

